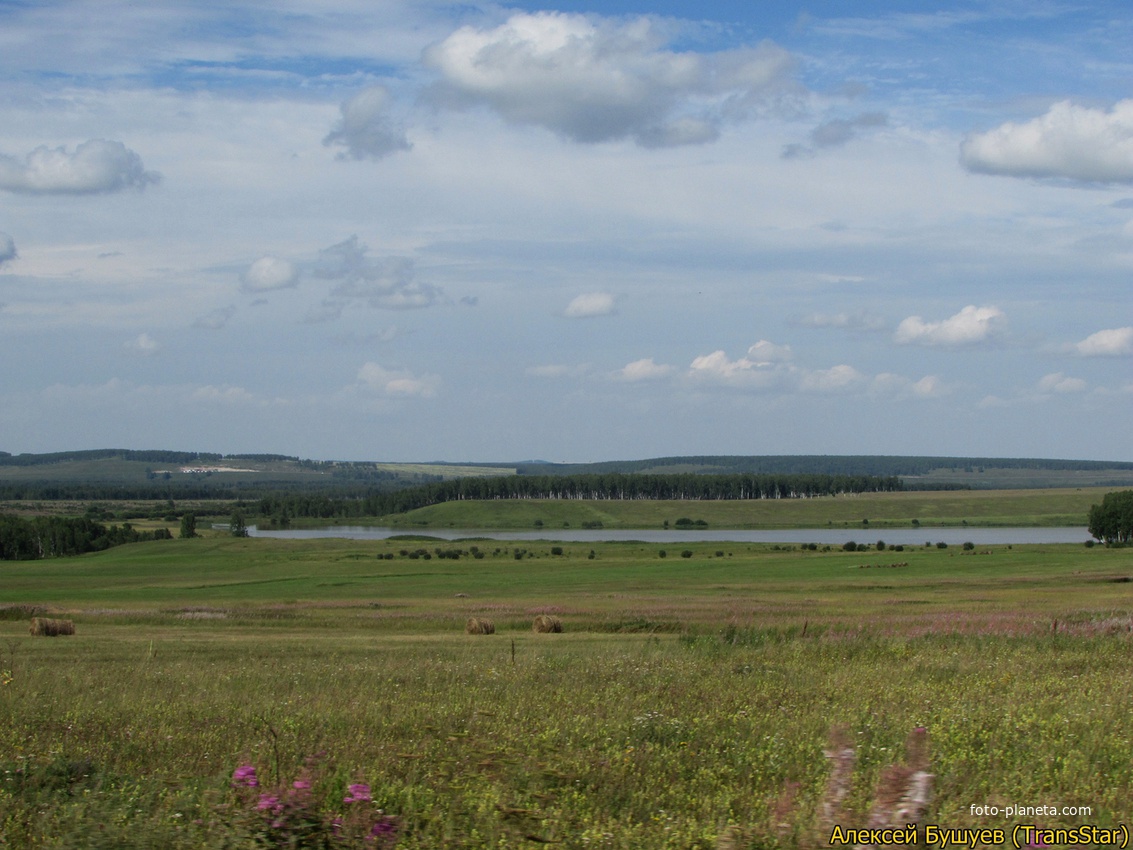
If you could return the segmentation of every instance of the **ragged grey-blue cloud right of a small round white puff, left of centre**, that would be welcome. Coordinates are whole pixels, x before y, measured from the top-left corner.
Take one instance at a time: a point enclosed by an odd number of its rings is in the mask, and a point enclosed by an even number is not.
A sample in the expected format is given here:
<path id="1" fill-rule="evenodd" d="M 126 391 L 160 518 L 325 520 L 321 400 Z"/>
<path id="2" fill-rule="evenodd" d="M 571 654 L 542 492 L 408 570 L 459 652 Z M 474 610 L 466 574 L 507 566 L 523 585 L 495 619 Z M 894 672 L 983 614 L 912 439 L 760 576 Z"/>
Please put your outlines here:
<path id="1" fill-rule="evenodd" d="M 416 279 L 412 260 L 376 260 L 367 256 L 368 250 L 357 236 L 351 236 L 318 253 L 315 277 L 337 281 L 331 290 L 332 305 L 334 299 L 363 299 L 370 307 L 414 309 L 437 303 L 441 290 Z M 338 311 L 341 313 L 341 306 Z"/>

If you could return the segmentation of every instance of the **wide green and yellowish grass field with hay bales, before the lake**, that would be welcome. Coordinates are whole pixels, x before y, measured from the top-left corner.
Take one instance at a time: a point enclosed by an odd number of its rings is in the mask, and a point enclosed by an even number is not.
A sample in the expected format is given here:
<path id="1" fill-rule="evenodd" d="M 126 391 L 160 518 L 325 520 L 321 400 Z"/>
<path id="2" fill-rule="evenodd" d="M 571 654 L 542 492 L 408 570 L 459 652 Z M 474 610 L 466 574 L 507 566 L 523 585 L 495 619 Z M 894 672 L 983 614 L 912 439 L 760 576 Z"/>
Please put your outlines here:
<path id="1" fill-rule="evenodd" d="M 0 847 L 323 847 L 335 814 L 415 849 L 824 845 L 834 726 L 844 826 L 919 725 L 927 823 L 1130 824 L 1133 550 L 681 549 L 218 537 L 0 564 Z M 33 613 L 77 634 L 31 637 Z M 247 764 L 261 787 L 232 788 Z M 1058 813 L 971 809 L 1007 805 Z"/>

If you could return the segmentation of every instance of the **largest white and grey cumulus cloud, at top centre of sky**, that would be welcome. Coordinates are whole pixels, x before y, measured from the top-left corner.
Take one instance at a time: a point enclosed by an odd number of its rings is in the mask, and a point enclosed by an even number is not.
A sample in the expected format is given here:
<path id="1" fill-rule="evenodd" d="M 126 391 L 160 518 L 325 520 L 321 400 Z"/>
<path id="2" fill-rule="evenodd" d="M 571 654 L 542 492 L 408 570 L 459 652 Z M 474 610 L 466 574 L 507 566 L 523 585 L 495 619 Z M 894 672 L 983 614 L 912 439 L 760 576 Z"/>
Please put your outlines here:
<path id="1" fill-rule="evenodd" d="M 440 102 L 486 105 L 574 142 L 645 147 L 714 141 L 725 117 L 747 114 L 792 68 L 770 43 L 695 53 L 666 42 L 649 18 L 521 12 L 494 29 L 462 27 L 424 59 L 441 75 Z"/>

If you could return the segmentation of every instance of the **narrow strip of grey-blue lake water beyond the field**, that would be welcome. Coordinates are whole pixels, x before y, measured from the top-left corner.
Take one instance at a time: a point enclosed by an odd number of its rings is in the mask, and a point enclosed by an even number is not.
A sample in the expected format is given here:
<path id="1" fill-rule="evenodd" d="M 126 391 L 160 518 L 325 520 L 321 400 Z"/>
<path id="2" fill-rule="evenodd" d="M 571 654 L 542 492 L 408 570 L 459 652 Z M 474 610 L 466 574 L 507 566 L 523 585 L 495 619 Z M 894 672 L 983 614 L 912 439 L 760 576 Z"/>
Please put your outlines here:
<path id="1" fill-rule="evenodd" d="M 542 528 L 533 532 L 495 532 L 476 528 L 378 528 L 374 526 L 326 526 L 325 528 L 301 528 L 288 530 L 259 530 L 248 527 L 252 537 L 278 537 L 282 539 L 313 539 L 316 537 L 341 537 L 359 541 L 381 541 L 398 535 L 419 534 L 444 541 L 482 538 L 491 541 L 547 541 L 551 543 L 608 543 L 616 541 L 642 541 L 645 543 L 817 543 L 841 546 L 847 541 L 855 543 L 902 544 L 922 546 L 925 543 L 947 543 L 961 545 L 966 542 L 978 546 L 1025 544 L 1025 543 L 1084 543 L 1090 539 L 1085 528 L 784 528 L 775 530 L 744 529 L 576 529 Z"/>

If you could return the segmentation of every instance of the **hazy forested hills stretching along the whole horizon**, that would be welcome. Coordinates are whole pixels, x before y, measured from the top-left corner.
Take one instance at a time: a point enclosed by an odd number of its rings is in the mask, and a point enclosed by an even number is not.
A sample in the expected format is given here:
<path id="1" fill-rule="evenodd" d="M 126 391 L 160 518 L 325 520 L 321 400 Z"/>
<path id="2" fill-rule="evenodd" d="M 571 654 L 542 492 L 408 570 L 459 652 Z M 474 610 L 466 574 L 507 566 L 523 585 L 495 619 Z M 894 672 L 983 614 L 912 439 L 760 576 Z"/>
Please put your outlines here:
<path id="1" fill-rule="evenodd" d="M 520 475 L 841 475 L 897 477 L 911 490 L 1133 486 L 1133 462 L 884 454 L 674 456 L 556 464 L 304 460 L 287 454 L 95 449 L 0 452 L 0 499 L 257 498 L 314 491 L 349 498 L 453 478 Z"/>

